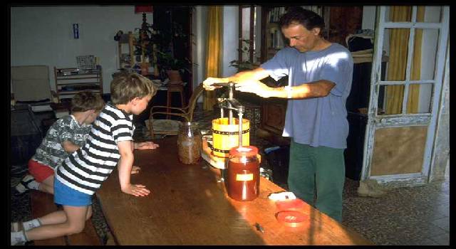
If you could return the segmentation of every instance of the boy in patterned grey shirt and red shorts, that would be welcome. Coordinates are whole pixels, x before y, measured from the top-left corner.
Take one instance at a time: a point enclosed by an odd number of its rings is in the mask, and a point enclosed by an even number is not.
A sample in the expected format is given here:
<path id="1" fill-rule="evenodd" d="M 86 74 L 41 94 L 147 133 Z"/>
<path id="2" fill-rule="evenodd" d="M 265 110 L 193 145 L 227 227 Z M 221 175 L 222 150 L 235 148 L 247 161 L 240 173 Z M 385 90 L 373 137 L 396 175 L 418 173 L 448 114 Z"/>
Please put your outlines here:
<path id="1" fill-rule="evenodd" d="M 28 189 L 54 193 L 54 170 L 71 153 L 83 146 L 91 124 L 104 105 L 101 96 L 93 92 L 84 91 L 74 95 L 71 115 L 61 117 L 51 125 L 43 142 L 28 161 L 30 174 L 24 176 L 16 186 L 20 194 Z"/>

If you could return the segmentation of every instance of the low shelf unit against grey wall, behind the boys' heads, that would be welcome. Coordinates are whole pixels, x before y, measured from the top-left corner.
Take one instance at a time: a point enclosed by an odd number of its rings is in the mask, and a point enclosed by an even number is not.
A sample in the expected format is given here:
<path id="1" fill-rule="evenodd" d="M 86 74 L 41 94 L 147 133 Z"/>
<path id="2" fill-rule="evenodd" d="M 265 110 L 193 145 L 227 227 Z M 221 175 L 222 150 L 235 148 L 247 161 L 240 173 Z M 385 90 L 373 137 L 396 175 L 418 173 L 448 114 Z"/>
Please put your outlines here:
<path id="1" fill-rule="evenodd" d="M 59 102 L 63 99 L 71 99 L 73 95 L 83 90 L 103 94 L 103 73 L 99 65 L 93 70 L 54 67 L 54 78 Z"/>

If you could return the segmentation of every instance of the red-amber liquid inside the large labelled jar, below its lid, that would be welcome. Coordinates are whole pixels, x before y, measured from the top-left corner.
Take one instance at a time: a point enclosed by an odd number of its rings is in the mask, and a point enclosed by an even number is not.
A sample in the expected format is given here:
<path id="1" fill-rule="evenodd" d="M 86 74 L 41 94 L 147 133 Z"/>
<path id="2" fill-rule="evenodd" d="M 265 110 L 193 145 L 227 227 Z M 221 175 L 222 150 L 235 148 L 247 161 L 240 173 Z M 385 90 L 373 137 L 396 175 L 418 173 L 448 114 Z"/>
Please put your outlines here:
<path id="1" fill-rule="evenodd" d="M 257 158 L 240 162 L 229 159 L 227 174 L 228 196 L 237 201 L 252 201 L 259 196 L 259 165 Z"/>

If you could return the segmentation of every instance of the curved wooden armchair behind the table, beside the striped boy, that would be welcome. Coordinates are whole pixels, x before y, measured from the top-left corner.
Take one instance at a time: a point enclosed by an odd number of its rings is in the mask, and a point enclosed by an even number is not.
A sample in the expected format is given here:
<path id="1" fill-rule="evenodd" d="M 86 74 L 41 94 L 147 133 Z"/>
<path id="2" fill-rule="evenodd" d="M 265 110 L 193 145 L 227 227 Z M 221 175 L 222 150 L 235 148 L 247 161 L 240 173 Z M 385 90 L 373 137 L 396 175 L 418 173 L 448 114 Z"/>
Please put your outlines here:
<path id="1" fill-rule="evenodd" d="M 177 116 L 181 117 L 185 122 L 192 122 L 193 120 L 193 111 L 197 105 L 197 100 L 199 95 L 202 94 L 204 88 L 202 87 L 202 83 L 200 83 L 195 90 L 193 90 L 192 96 L 190 96 L 190 100 L 188 101 L 188 105 L 185 107 L 169 107 L 164 105 L 155 105 L 150 108 L 150 115 L 149 120 L 147 120 L 147 129 L 149 129 L 150 136 L 153 138 L 155 134 L 162 134 L 162 135 L 177 135 L 179 132 L 179 120 L 154 120 L 154 115 L 161 114 L 169 116 Z M 175 112 L 172 112 L 172 111 Z"/>

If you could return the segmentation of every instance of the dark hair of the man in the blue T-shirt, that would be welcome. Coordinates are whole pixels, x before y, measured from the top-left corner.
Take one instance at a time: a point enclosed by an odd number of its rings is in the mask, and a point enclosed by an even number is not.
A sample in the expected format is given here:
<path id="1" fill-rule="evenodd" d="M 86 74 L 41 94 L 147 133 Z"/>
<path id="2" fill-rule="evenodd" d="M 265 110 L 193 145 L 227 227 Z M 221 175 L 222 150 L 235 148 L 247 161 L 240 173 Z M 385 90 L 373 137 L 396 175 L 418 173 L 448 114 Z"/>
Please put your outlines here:
<path id="1" fill-rule="evenodd" d="M 323 29 L 325 28 L 325 21 L 321 16 L 318 16 L 314 11 L 309 11 L 302 7 L 290 7 L 286 14 L 282 15 L 279 19 L 281 28 L 293 24 L 301 24 L 309 31 L 312 28 L 320 28 L 320 34 L 323 33 Z"/>

